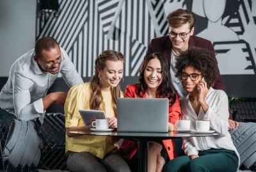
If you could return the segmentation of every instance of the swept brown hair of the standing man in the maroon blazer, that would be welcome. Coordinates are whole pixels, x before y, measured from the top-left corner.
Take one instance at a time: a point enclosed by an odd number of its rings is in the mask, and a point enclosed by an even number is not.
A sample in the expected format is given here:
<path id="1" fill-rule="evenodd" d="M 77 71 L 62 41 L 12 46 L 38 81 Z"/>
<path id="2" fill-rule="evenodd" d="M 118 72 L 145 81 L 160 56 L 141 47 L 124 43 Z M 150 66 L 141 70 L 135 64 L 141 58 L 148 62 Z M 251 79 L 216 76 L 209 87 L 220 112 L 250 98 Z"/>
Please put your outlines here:
<path id="1" fill-rule="evenodd" d="M 196 16 L 188 10 L 178 9 L 170 13 L 166 18 L 170 27 L 179 28 L 180 26 L 189 23 L 190 29 L 195 25 Z"/>

